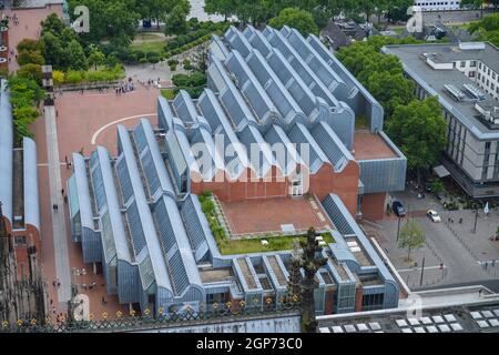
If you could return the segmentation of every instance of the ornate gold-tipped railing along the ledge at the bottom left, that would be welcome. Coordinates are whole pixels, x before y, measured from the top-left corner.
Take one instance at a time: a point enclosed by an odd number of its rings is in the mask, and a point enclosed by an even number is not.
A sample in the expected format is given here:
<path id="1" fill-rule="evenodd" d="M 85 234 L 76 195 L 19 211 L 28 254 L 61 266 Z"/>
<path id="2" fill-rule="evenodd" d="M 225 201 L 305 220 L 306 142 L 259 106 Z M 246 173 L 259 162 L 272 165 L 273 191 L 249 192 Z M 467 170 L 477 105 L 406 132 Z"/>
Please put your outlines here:
<path id="1" fill-rule="evenodd" d="M 141 316 L 123 316 L 119 311 L 116 317 L 109 320 L 109 314 L 102 314 L 102 321 L 71 321 L 53 323 L 50 320 L 18 320 L 14 323 L 3 321 L 0 323 L 0 333 L 89 333 L 89 332 L 140 332 L 169 327 L 193 326 L 197 324 L 226 323 L 254 318 L 279 317 L 283 315 L 299 315 L 299 302 L 275 304 L 271 297 L 263 306 L 246 305 L 244 301 L 237 304 L 227 302 L 225 305 L 214 303 L 212 311 L 194 311 L 187 308 L 182 313 L 162 314 L 152 316 L 149 310 Z"/>

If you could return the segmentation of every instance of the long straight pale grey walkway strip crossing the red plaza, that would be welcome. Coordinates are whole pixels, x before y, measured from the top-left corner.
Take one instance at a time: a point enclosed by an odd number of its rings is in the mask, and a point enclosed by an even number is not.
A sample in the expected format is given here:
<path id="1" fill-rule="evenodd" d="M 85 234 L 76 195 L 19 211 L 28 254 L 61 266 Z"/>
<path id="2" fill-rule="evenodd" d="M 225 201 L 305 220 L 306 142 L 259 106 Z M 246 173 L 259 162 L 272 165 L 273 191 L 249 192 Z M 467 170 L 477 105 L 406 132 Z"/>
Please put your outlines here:
<path id="1" fill-rule="evenodd" d="M 65 226 L 64 200 L 62 196 L 61 164 L 59 159 L 59 141 L 55 123 L 55 108 L 45 106 L 47 153 L 49 160 L 50 201 L 58 205 L 52 209 L 53 244 L 55 256 L 55 275 L 61 283 L 58 288 L 59 302 L 71 298 L 71 273 L 68 255 L 68 231 Z"/>

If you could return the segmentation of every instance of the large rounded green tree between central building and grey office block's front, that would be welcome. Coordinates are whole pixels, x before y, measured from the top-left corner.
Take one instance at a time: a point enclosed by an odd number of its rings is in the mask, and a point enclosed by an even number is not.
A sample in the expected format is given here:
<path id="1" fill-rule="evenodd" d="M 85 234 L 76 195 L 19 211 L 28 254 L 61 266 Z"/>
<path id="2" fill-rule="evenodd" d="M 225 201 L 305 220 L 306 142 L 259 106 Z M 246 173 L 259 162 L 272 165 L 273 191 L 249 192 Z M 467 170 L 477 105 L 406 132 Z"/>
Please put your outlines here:
<path id="1" fill-rule="evenodd" d="M 419 183 L 420 171 L 432 168 L 447 145 L 446 121 L 437 98 L 396 106 L 387 132 L 407 156 L 408 168 L 417 172 Z"/>

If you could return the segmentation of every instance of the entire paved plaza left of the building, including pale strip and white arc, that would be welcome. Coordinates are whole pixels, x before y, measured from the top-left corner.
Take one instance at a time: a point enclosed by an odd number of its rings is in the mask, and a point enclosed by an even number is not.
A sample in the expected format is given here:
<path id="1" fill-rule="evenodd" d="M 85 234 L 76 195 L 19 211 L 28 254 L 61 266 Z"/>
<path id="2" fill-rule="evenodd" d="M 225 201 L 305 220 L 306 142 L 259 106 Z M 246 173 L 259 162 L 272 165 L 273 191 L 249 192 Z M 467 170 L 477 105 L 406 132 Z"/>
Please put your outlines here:
<path id="1" fill-rule="evenodd" d="M 53 112 L 38 119 L 32 131 L 35 134 L 39 159 L 39 184 L 41 204 L 41 261 L 45 274 L 51 303 L 51 314 L 65 313 L 65 301 L 70 296 L 71 283 L 78 285 L 79 293 L 90 298 L 90 313 L 98 320 L 105 311 L 110 316 L 116 311 L 124 314 L 128 306 L 118 304 L 116 296 L 105 293 L 104 277 L 100 270 L 95 274 L 94 265 L 83 264 L 80 244 L 71 242 L 70 225 L 62 189 L 72 170 L 68 169 L 65 158 L 71 160 L 72 152 L 89 154 L 96 145 L 116 153 L 116 125 L 134 126 L 140 118 L 156 121 L 156 89 L 140 87 L 138 91 L 116 95 L 114 91 L 64 92 L 55 100 Z M 65 194 L 65 191 L 64 191 Z M 53 204 L 59 209 L 53 210 Z M 79 274 L 72 272 L 79 270 Z M 82 270 L 85 270 L 84 274 Z M 53 286 L 52 282 L 60 282 Z M 91 285 L 94 285 L 91 287 Z"/>

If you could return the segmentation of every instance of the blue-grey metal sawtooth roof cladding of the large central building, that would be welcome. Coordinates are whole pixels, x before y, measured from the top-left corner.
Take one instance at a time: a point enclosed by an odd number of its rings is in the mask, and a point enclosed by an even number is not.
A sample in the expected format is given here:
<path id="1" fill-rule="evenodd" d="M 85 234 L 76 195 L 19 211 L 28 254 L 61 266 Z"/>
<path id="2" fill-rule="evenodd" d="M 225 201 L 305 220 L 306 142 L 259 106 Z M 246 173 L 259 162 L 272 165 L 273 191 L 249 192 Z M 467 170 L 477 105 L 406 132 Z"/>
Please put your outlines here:
<path id="1" fill-rule="evenodd" d="M 288 277 L 289 252 L 221 255 L 197 196 L 189 190 L 180 193 L 179 186 L 183 179 L 189 180 L 195 173 L 210 181 L 221 170 L 236 179 L 245 168 L 253 169 L 259 176 L 272 166 L 287 174 L 296 164 L 307 165 L 312 172 L 324 164 L 340 171 L 348 161 L 355 161 L 349 149 L 357 111 L 354 112 L 348 102 L 355 102 L 357 99 L 353 98 L 364 89 L 357 88 L 359 84 L 343 73 L 345 69 L 338 67 L 335 59 L 329 59 L 333 55 L 324 52 L 320 45 L 313 38 L 305 40 L 287 28 L 282 31 L 267 28 L 258 32 L 249 27 L 244 33 L 231 28 L 223 40 L 215 37 L 212 42 L 207 69 L 211 89 L 197 100 L 185 91 L 170 102 L 160 98 L 161 133 L 155 134 L 144 119 L 130 131 L 120 125 L 118 159 L 111 163 L 103 148 L 91 156 L 91 172 L 95 173 L 95 178 L 91 174 L 91 186 L 93 199 L 100 205 L 104 255 L 105 250 L 110 252 L 113 247 L 121 247 L 124 255 L 118 257 L 118 274 L 122 278 L 116 290 L 121 302 L 126 300 L 144 305 L 149 293 L 155 294 L 156 307 L 170 306 L 205 302 L 206 294 L 230 292 L 233 297 L 244 297 L 247 302 L 256 298 L 256 304 L 262 304 L 265 291 L 268 291 L 264 288 L 284 292 L 283 276 Z M 349 91 L 352 98 L 343 91 Z M 376 106 L 376 102 L 371 104 Z M 156 135 L 164 142 L 164 151 L 160 151 Z M 210 146 L 207 168 L 201 164 L 194 148 L 196 143 Z M 235 144 L 234 154 L 226 154 L 231 143 Z M 256 155 L 259 160 L 255 162 L 248 160 L 248 153 L 254 149 L 252 143 L 258 143 Z M 272 148 L 275 143 L 284 143 L 291 154 L 284 158 L 276 154 Z M 305 161 L 307 154 L 299 143 L 308 144 L 308 161 Z M 78 160 L 82 162 L 75 161 L 75 165 L 84 164 L 82 159 Z M 233 168 L 226 166 L 234 161 Z M 79 176 L 84 172 L 85 169 L 75 166 Z M 90 194 L 88 187 L 77 185 L 78 194 Z M 370 186 L 369 181 L 359 182 L 360 185 Z M 103 201 L 95 196 L 96 191 L 104 192 Z M 109 202 L 111 191 L 112 206 Z M 124 201 L 120 202 L 121 195 Z M 80 213 L 86 211 L 85 220 L 89 221 L 92 211 L 89 211 L 86 199 L 78 201 Z M 342 310 L 350 310 L 355 297 L 352 290 L 355 291 L 359 275 L 379 275 L 383 285 L 365 286 L 366 294 L 384 293 L 384 306 L 396 306 L 397 284 L 339 197 L 328 196 L 324 207 L 330 224 L 338 231 L 332 232 L 336 240 L 329 245 L 333 257 L 320 271 L 330 277 L 317 276 L 322 290 L 317 292 L 316 301 L 322 312 L 324 287 L 328 283 L 337 284 L 342 297 L 348 298 Z M 120 211 L 129 214 L 126 229 Z M 110 231 L 104 233 L 104 230 Z M 105 239 L 104 234 L 112 237 Z M 345 240 L 354 236 L 373 265 L 360 265 L 348 248 Z M 133 262 L 123 262 L 126 257 Z M 109 262 L 104 258 L 104 263 Z M 233 276 L 202 282 L 198 264 L 204 263 L 211 263 L 215 270 L 228 268 Z M 109 274 L 112 268 L 104 267 L 104 272 Z M 135 282 L 139 278 L 141 281 Z M 268 282 L 264 282 L 265 278 Z M 128 290 L 123 290 L 123 284 Z"/>

